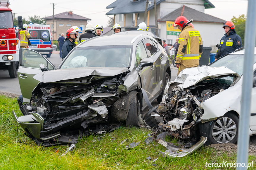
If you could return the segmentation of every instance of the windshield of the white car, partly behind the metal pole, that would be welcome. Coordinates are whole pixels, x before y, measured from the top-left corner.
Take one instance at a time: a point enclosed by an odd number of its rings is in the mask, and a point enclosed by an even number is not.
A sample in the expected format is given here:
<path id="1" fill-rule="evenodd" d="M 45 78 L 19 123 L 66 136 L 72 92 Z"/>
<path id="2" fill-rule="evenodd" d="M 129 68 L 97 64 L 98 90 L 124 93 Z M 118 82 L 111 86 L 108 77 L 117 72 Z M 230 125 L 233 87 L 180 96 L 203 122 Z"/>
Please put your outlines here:
<path id="1" fill-rule="evenodd" d="M 256 62 L 256 55 L 253 56 L 253 63 Z M 244 67 L 244 54 L 229 54 L 216 60 L 214 63 L 210 64 L 211 67 L 225 66 L 234 72 L 238 73 L 240 76 L 243 74 Z"/>

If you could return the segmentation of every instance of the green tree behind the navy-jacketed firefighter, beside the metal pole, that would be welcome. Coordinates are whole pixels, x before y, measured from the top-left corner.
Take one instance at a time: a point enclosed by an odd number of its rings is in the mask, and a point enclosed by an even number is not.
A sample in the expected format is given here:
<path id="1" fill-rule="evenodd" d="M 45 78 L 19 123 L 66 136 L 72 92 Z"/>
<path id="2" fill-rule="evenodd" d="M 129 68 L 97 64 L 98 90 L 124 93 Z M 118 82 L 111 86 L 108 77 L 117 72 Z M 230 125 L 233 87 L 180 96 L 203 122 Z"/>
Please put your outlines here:
<path id="1" fill-rule="evenodd" d="M 231 22 L 235 24 L 235 30 L 237 35 L 239 35 L 242 39 L 242 44 L 244 46 L 244 31 L 245 31 L 245 22 L 246 22 L 246 17 L 244 14 L 239 15 L 238 18 L 233 16 L 231 19 Z"/>

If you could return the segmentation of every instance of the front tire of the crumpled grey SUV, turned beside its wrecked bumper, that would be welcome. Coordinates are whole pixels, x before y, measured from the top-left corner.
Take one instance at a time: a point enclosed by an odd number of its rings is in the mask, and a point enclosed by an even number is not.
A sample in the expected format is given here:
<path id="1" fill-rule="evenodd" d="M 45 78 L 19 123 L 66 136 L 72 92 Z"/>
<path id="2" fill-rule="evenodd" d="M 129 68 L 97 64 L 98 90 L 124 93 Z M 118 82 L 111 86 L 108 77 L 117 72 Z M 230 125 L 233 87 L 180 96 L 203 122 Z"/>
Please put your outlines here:
<path id="1" fill-rule="evenodd" d="M 130 109 L 126 118 L 126 126 L 139 126 L 138 115 L 140 114 L 140 102 L 138 100 L 137 95 L 132 98 Z"/>

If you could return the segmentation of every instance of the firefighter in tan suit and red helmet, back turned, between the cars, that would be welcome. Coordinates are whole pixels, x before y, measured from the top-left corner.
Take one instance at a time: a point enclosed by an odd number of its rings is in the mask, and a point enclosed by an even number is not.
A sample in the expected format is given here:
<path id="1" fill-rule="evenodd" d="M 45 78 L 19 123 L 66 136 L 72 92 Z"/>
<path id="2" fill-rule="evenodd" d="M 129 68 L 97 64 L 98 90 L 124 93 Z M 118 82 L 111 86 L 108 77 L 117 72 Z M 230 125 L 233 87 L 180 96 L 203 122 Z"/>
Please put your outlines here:
<path id="1" fill-rule="evenodd" d="M 203 41 L 198 30 L 194 29 L 190 24 L 193 19 L 187 20 L 184 16 L 179 16 L 174 21 L 175 27 L 181 30 L 179 34 L 179 48 L 175 60 L 179 73 L 190 67 L 198 67 L 199 59 L 203 53 Z"/>

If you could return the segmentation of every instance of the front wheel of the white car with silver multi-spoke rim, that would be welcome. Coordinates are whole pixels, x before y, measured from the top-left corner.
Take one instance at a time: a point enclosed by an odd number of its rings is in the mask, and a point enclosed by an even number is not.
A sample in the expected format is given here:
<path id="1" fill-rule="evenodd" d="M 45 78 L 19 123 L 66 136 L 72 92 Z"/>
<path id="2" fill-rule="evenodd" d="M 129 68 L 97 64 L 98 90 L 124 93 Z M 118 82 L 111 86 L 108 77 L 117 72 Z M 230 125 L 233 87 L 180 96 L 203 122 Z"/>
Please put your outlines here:
<path id="1" fill-rule="evenodd" d="M 214 121 L 203 123 L 201 135 L 207 137 L 206 145 L 218 143 L 236 143 L 238 137 L 238 117 L 232 113 Z"/>

